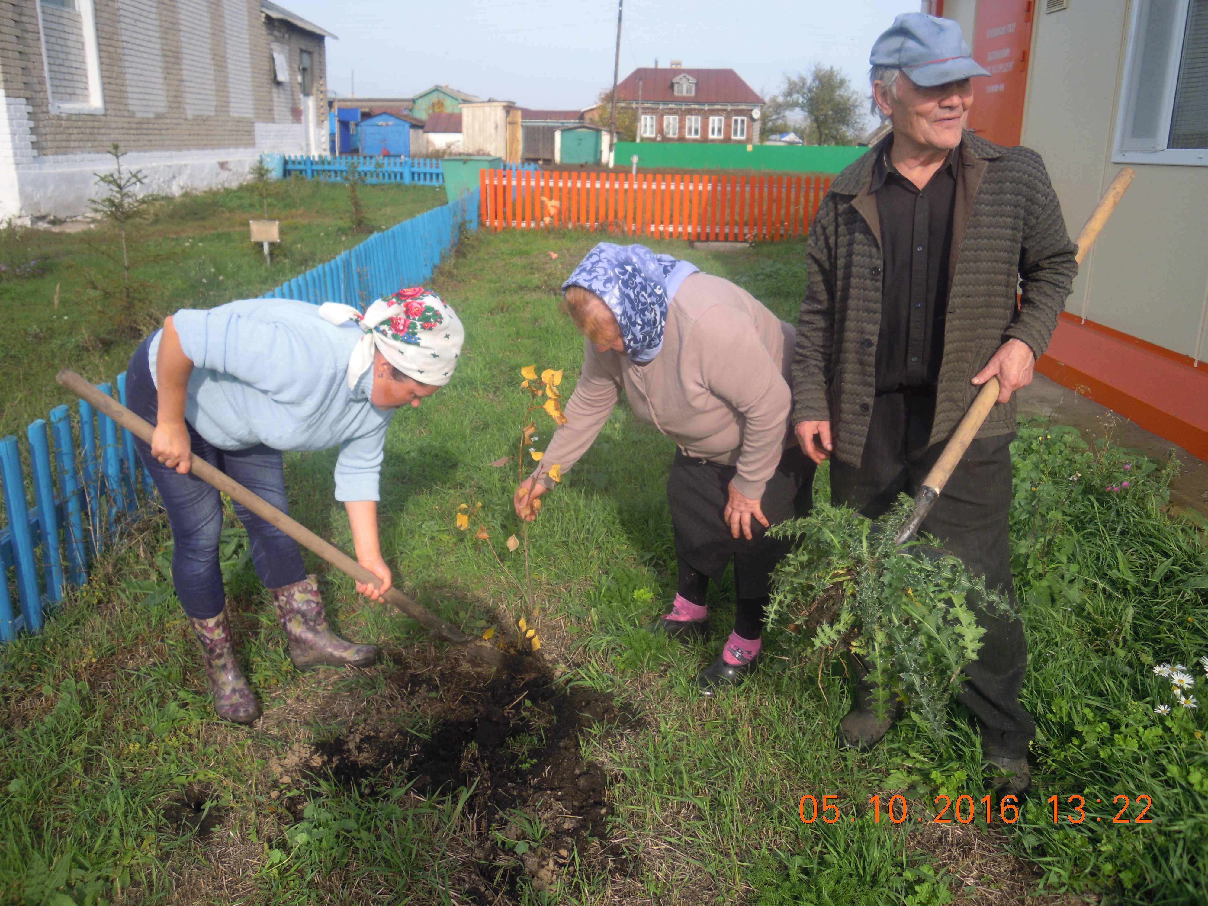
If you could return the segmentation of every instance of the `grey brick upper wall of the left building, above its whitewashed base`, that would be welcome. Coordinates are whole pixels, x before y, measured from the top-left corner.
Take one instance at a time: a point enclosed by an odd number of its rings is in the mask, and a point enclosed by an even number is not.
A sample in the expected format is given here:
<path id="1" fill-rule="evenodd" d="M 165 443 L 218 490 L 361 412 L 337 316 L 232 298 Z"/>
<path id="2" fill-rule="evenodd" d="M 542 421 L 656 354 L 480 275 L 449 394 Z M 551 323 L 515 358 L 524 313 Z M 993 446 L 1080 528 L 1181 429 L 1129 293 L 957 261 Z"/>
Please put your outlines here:
<path id="1" fill-rule="evenodd" d="M 31 109 L 41 157 L 104 152 L 115 141 L 129 151 L 255 147 L 257 132 L 274 134 L 256 124 L 281 123 L 286 104 L 284 122 L 301 122 L 300 48 L 313 56 L 316 117 L 325 127 L 323 39 L 265 18 L 259 0 L 95 2 L 104 112 L 51 112 L 36 4 L 0 0 L 0 86 Z M 51 18 L 72 12 L 43 6 L 43 21 L 48 11 Z M 290 52 L 288 86 L 273 81 L 271 40 Z M 54 100 L 62 101 L 57 80 L 52 71 Z"/>

